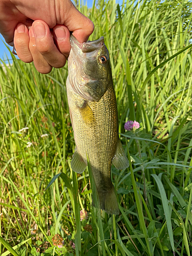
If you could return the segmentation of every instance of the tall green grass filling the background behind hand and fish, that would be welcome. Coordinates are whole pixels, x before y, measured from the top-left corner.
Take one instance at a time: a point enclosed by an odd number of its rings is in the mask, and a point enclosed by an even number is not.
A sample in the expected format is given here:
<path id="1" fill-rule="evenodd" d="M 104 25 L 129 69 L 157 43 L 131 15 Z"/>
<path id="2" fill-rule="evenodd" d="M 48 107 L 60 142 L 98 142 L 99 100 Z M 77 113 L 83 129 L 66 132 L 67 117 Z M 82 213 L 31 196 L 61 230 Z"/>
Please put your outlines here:
<path id="1" fill-rule="evenodd" d="M 111 56 L 130 161 L 127 169 L 112 166 L 120 214 L 92 206 L 88 168 L 72 172 L 67 67 L 41 75 L 12 56 L 0 67 L 0 254 L 189 256 L 192 3 L 99 0 L 78 8 L 95 24 L 90 40 L 103 35 Z M 127 120 L 141 128 L 124 131 Z"/>

